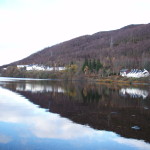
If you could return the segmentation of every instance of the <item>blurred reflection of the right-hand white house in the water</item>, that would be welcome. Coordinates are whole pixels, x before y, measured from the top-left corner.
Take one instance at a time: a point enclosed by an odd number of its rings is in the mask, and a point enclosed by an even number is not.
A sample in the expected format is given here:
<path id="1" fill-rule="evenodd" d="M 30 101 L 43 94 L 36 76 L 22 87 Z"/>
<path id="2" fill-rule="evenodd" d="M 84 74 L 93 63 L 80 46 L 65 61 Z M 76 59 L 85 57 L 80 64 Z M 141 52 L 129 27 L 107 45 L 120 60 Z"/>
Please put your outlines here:
<path id="1" fill-rule="evenodd" d="M 122 88 L 119 91 L 120 95 L 127 96 L 129 95 L 131 98 L 140 98 L 145 99 L 148 96 L 148 91 L 141 90 L 138 88 Z"/>

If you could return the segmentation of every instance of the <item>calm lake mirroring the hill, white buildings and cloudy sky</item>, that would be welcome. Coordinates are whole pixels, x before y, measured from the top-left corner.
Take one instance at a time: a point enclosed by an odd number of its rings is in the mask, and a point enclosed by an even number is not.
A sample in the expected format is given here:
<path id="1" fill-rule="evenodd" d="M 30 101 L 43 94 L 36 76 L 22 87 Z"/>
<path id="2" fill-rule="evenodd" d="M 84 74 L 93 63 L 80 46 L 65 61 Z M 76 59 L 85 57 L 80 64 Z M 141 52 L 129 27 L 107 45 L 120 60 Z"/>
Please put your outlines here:
<path id="1" fill-rule="evenodd" d="M 1 77 L 0 150 L 150 150 L 150 86 Z"/>

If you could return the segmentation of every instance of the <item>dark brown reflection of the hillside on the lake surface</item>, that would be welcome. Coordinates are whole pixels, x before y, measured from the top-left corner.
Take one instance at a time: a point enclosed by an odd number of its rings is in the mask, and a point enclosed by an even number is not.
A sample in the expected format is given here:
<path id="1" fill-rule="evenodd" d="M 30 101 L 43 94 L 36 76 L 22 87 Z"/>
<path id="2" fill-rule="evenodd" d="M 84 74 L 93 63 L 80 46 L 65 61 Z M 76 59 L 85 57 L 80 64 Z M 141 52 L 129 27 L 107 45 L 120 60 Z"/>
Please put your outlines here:
<path id="1" fill-rule="evenodd" d="M 7 88 L 17 91 L 48 111 L 58 113 L 76 123 L 150 142 L 150 101 L 148 98 L 145 100 L 123 98 L 118 90 L 100 85 L 97 87 L 65 84 L 64 89 L 68 93 L 57 91 L 34 93 L 18 90 L 14 85 L 13 87 L 7 85 Z M 72 96 L 70 93 L 74 92 L 76 95 Z M 134 130 L 133 126 L 138 126 L 140 129 Z"/>

